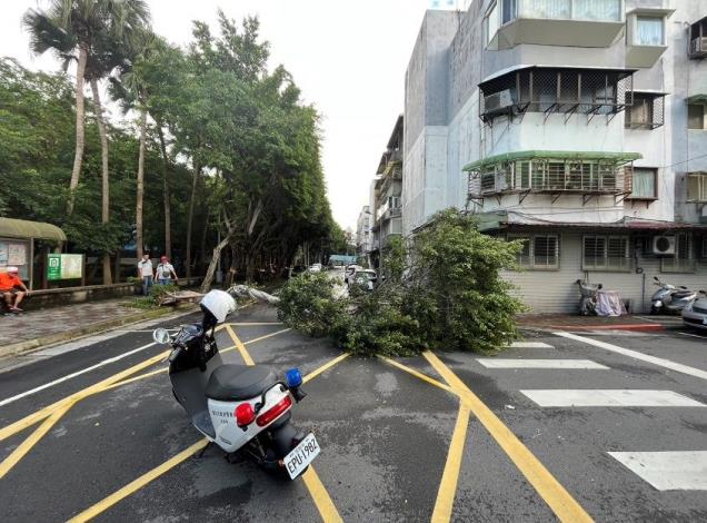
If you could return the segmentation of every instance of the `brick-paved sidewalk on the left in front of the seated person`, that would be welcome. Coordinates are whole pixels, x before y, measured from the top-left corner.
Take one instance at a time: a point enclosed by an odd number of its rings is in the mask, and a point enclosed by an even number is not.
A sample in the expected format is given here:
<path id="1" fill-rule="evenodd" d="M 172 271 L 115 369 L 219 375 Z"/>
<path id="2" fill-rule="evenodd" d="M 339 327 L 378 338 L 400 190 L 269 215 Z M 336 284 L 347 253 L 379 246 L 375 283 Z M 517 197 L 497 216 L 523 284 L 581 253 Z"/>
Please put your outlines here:
<path id="1" fill-rule="evenodd" d="M 121 305 L 125 303 L 122 297 L 0 316 L 0 357 L 176 310 L 143 310 Z"/>

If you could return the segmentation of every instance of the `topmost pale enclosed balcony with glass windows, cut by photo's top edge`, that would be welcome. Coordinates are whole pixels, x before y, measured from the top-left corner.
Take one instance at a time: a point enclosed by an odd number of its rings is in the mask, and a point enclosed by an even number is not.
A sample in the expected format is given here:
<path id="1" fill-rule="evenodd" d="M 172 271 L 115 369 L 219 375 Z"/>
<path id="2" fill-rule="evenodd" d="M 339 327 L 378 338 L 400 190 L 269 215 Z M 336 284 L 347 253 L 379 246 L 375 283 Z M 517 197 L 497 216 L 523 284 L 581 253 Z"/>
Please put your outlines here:
<path id="1" fill-rule="evenodd" d="M 624 29 L 624 1 L 498 0 L 485 29 L 491 50 L 520 43 L 607 48 Z"/>

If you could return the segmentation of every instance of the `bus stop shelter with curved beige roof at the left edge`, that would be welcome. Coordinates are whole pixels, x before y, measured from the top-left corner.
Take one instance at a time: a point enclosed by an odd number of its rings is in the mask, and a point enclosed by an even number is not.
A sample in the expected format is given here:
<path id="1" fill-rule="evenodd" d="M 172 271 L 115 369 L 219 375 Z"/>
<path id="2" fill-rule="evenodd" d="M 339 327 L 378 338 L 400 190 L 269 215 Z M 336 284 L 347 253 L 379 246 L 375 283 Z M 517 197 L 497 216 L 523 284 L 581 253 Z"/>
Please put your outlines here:
<path id="1" fill-rule="evenodd" d="M 0 218 L 0 270 L 8 266 L 20 269 L 20 277 L 34 288 L 36 241 L 61 245 L 67 235 L 56 225 L 26 219 Z M 46 256 L 44 256 L 46 258 Z"/>

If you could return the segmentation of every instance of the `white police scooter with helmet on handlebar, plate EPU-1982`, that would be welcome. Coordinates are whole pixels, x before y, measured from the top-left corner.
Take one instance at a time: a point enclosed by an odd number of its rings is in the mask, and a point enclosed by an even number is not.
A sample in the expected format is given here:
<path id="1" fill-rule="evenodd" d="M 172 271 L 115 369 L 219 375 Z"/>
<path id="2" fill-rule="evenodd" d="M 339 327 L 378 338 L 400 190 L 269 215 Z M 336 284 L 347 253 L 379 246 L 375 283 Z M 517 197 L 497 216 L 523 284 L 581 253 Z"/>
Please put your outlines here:
<path id="1" fill-rule="evenodd" d="M 282 382 L 265 366 L 225 364 L 215 329 L 236 310 L 236 300 L 211 290 L 201 300 L 201 325 L 185 325 L 173 335 L 163 328 L 152 334 L 157 343 L 172 347 L 169 377 L 175 398 L 229 461 L 249 457 L 295 480 L 320 451 L 313 434 L 298 434 L 289 423 L 293 401 L 306 396 L 299 371 L 289 369 Z"/>

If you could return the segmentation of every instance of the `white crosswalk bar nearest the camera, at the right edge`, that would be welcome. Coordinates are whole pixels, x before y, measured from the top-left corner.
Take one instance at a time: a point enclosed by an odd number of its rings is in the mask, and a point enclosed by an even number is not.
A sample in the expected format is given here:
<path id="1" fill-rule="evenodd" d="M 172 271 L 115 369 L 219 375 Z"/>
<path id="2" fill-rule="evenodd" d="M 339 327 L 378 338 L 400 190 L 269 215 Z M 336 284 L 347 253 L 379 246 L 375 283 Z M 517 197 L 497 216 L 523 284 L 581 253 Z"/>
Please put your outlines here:
<path id="1" fill-rule="evenodd" d="M 707 451 L 609 452 L 659 491 L 707 491 Z"/>

